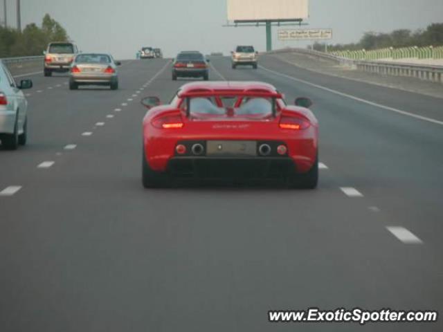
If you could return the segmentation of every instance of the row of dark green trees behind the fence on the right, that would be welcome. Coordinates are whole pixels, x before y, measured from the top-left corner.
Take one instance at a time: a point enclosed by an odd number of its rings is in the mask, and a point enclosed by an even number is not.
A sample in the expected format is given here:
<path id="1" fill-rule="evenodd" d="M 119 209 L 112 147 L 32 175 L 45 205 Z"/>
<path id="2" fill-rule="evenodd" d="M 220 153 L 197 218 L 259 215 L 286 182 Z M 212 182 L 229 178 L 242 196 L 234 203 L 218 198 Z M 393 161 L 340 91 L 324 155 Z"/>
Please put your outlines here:
<path id="1" fill-rule="evenodd" d="M 392 33 L 365 33 L 360 42 L 353 44 L 329 45 L 329 51 L 370 51 L 390 48 L 425 48 L 443 46 L 443 23 L 431 24 L 426 30 L 395 30 Z M 324 50 L 320 43 L 314 44 L 315 50 Z"/>

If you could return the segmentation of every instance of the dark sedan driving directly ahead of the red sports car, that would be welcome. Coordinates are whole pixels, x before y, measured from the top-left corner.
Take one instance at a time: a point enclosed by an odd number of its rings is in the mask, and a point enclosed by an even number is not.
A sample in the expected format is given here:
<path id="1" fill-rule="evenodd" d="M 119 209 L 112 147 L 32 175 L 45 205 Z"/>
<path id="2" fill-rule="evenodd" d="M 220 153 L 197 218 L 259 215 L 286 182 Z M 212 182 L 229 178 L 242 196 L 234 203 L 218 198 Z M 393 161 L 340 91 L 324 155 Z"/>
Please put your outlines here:
<path id="1" fill-rule="evenodd" d="M 203 77 L 209 80 L 209 60 L 197 51 L 184 51 L 177 55 L 172 66 L 172 80 L 177 77 Z"/>

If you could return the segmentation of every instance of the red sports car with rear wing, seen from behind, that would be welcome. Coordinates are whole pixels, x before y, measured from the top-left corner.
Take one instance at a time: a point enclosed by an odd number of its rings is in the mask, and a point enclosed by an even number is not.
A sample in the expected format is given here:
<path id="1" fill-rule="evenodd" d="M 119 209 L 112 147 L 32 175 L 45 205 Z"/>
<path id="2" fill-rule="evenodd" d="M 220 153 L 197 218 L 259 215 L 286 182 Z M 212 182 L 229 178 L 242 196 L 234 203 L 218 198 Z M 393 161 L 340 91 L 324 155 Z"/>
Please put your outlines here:
<path id="1" fill-rule="evenodd" d="M 170 104 L 148 97 L 143 119 L 143 185 L 175 178 L 283 180 L 314 189 L 318 122 L 311 101 L 289 106 L 261 82 L 185 84 Z"/>

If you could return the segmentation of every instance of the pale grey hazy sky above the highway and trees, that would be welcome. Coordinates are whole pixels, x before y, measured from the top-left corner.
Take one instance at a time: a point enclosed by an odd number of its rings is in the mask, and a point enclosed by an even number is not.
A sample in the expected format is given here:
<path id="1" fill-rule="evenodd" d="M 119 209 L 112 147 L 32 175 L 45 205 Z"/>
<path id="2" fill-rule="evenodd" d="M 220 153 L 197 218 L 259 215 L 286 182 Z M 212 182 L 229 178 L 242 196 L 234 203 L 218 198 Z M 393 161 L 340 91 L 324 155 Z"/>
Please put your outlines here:
<path id="1" fill-rule="evenodd" d="M 15 0 L 8 1 L 15 24 Z M 270 0 L 272 1 L 272 0 Z M 309 28 L 333 28 L 332 43 L 356 42 L 365 31 L 426 28 L 443 22 L 443 0 L 310 0 Z M 3 14 L 3 0 L 0 11 Z M 264 28 L 224 28 L 226 0 L 21 0 L 22 25 L 40 24 L 48 12 L 84 52 L 132 58 L 141 46 L 228 53 L 236 44 L 266 47 Z M 296 46 L 278 42 L 274 48 Z M 298 44 L 303 45 L 303 44 Z"/>

